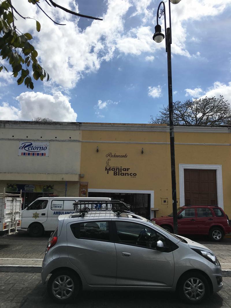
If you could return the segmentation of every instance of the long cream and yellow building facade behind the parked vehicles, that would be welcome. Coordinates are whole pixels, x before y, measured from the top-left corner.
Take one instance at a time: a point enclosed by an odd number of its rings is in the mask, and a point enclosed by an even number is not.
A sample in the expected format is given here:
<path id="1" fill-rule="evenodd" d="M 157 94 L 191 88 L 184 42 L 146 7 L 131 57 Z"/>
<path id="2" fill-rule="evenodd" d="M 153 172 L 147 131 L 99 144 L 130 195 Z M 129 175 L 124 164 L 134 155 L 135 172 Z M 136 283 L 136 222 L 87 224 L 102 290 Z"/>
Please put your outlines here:
<path id="1" fill-rule="evenodd" d="M 60 197 L 120 199 L 147 218 L 172 212 L 166 125 L 0 121 L 0 134 L 1 190 L 45 186 Z M 48 144 L 49 154 L 21 153 L 25 142 Z M 178 206 L 217 204 L 231 217 L 230 145 L 230 127 L 175 127 Z"/>

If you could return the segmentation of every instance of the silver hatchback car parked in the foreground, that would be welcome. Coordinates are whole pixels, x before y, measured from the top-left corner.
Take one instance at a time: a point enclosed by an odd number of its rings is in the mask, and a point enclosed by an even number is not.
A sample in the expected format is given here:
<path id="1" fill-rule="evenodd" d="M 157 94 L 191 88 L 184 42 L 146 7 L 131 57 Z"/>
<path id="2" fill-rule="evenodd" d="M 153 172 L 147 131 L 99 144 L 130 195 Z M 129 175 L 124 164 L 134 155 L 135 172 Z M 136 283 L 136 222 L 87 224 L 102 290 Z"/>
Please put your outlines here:
<path id="1" fill-rule="evenodd" d="M 43 259 L 42 281 L 56 301 L 80 290 L 168 290 L 198 304 L 221 290 L 221 265 L 205 246 L 133 213 L 59 216 Z"/>

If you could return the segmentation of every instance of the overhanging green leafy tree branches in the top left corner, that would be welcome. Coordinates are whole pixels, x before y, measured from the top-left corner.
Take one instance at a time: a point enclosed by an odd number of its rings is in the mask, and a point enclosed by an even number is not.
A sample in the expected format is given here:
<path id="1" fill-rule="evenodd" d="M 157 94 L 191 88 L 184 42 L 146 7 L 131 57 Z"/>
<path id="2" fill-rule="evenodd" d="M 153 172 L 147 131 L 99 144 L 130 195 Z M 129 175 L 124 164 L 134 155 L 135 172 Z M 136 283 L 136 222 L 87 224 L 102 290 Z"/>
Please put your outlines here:
<path id="1" fill-rule="evenodd" d="M 26 1 L 26 0 L 20 0 Z M 27 0 L 29 3 L 36 5 L 48 18 L 50 18 L 53 22 L 55 22 L 50 16 L 47 15 L 46 11 L 40 6 L 39 0 Z M 53 8 L 58 8 L 60 10 L 64 10 L 69 14 L 73 14 L 80 17 L 86 17 L 91 19 L 102 20 L 101 18 L 87 16 L 83 14 L 79 14 L 68 10 L 67 8 L 58 5 L 52 0 L 44 0 L 44 4 L 49 5 Z M 32 39 L 32 35 L 30 33 L 22 33 L 15 26 L 15 15 L 20 18 L 27 19 L 30 17 L 24 17 L 20 14 L 15 7 L 12 5 L 11 0 L 5 0 L 0 4 L 0 56 L 2 60 L 6 59 L 6 61 L 12 67 L 12 75 L 17 79 L 17 83 L 24 84 L 27 88 L 33 89 L 34 84 L 32 78 L 30 76 L 30 64 L 32 67 L 32 74 L 35 80 L 42 80 L 47 78 L 49 80 L 49 74 L 47 71 L 41 67 L 38 63 L 37 57 L 38 52 L 34 49 L 34 46 L 29 43 Z M 30 18 L 34 19 L 34 18 Z M 36 22 L 36 30 L 39 32 L 41 29 L 41 25 L 39 21 Z M 65 24 L 60 24 L 55 22 L 57 25 L 65 26 Z M 7 68 L 0 61 L 0 72 Z"/>

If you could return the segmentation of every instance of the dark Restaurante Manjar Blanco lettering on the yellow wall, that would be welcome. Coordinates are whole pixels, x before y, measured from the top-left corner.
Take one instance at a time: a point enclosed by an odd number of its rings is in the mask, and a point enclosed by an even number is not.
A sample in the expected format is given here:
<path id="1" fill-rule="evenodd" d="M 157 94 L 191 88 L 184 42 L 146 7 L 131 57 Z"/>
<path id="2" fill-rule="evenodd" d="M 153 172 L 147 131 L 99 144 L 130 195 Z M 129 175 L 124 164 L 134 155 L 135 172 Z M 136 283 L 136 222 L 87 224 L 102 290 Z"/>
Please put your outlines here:
<path id="1" fill-rule="evenodd" d="M 123 160 L 121 163 L 121 158 L 127 158 L 127 153 L 125 154 L 118 154 L 118 153 L 107 153 L 106 154 L 106 166 L 105 171 L 107 174 L 111 174 L 113 176 L 128 176 L 128 177 L 136 177 L 137 173 L 132 170 L 132 168 L 128 168 L 126 160 Z M 117 158 L 115 160 L 115 158 Z"/>

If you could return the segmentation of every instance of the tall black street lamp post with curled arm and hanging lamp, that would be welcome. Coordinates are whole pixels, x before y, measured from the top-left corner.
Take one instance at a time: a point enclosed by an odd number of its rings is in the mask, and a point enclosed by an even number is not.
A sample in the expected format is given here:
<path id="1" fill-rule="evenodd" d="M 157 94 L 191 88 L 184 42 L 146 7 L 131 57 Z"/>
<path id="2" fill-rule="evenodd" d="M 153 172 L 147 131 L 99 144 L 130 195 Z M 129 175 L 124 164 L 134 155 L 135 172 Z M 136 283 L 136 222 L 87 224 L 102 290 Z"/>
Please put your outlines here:
<path id="1" fill-rule="evenodd" d="M 165 45 L 168 58 L 168 109 L 169 109 L 169 129 L 170 129 L 170 152 L 171 152 L 171 175 L 172 175 L 172 212 L 173 212 L 173 232 L 178 234 L 177 228 L 177 204 L 176 204 L 176 168 L 175 168 L 175 147 L 174 147 L 174 127 L 173 127 L 173 107 L 172 107 L 172 64 L 171 64 L 171 44 L 172 44 L 172 29 L 171 29 L 171 9 L 170 2 L 177 4 L 180 0 L 168 0 L 169 5 L 169 28 L 166 28 L 165 4 L 160 2 L 156 14 L 156 26 L 153 39 L 156 43 L 160 43 L 164 39 L 164 34 L 161 33 L 161 26 L 158 24 L 158 19 L 164 16 L 165 26 Z M 160 9 L 161 4 L 163 9 Z"/>

